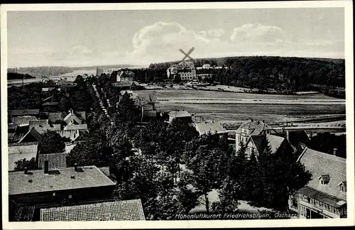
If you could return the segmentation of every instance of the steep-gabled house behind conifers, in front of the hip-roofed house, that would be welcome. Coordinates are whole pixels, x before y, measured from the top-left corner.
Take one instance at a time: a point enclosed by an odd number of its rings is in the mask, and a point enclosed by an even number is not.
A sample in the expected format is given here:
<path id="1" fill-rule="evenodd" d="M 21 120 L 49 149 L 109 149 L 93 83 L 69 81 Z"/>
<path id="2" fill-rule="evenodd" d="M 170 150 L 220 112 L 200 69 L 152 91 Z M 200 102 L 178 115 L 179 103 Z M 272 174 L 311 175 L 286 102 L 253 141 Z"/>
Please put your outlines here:
<path id="1" fill-rule="evenodd" d="M 266 138 L 269 146 L 271 147 L 271 153 L 294 153 L 294 148 L 288 142 L 286 138 L 276 136 L 274 134 L 261 134 L 261 135 L 253 135 L 251 136 L 248 141 L 246 141 L 246 157 L 250 158 L 252 153 L 256 154 L 256 157 L 260 155 L 263 151 L 263 138 Z"/>

